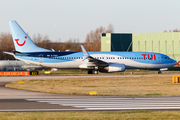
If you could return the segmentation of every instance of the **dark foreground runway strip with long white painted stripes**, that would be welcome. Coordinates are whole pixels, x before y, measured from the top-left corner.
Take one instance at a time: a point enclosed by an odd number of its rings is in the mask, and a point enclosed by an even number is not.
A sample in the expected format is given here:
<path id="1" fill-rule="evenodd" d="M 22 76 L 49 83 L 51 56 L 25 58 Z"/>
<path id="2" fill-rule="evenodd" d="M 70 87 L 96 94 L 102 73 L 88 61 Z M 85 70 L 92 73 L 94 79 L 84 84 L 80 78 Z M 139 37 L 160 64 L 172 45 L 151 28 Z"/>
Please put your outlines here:
<path id="1" fill-rule="evenodd" d="M 0 112 L 180 110 L 180 97 L 4 99 Z"/>

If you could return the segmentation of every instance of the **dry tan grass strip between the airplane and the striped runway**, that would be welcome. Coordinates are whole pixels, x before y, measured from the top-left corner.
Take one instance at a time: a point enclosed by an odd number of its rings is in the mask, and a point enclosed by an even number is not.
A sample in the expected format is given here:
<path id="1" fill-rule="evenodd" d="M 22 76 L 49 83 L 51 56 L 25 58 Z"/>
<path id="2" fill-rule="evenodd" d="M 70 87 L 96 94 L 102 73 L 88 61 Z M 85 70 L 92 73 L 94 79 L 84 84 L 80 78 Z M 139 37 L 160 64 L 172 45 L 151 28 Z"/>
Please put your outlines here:
<path id="1" fill-rule="evenodd" d="M 172 77 L 106 77 L 25 80 L 24 85 L 14 81 L 9 88 L 67 95 L 88 95 L 97 91 L 99 96 L 179 96 L 179 83 L 172 83 Z"/>

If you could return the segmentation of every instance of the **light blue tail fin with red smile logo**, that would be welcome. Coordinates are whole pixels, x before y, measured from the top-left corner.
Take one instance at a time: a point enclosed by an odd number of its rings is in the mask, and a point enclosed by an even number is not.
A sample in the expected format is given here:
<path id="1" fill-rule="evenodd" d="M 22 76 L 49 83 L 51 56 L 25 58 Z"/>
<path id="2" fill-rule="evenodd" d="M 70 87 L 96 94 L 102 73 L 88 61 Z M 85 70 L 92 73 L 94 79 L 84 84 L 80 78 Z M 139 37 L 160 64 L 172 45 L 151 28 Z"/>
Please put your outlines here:
<path id="1" fill-rule="evenodd" d="M 50 51 L 36 46 L 15 20 L 9 21 L 9 26 L 16 51 L 22 53 Z"/>

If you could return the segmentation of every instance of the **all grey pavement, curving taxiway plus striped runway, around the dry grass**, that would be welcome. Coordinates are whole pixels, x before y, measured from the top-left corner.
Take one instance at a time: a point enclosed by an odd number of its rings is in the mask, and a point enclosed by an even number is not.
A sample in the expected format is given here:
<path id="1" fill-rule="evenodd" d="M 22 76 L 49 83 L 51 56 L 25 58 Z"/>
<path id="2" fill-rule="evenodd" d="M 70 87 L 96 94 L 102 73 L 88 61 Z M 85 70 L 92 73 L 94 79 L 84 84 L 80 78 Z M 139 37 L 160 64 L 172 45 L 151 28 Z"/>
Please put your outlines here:
<path id="1" fill-rule="evenodd" d="M 117 75 L 112 77 L 149 75 Z M 157 75 L 156 75 L 157 76 Z M 159 75 L 158 75 L 159 76 Z M 173 75 L 165 75 L 173 76 Z M 105 97 L 75 96 L 31 92 L 4 87 L 14 80 L 111 77 L 111 76 L 34 76 L 0 77 L 0 112 L 28 111 L 112 111 L 112 110 L 180 110 L 180 97 Z"/>

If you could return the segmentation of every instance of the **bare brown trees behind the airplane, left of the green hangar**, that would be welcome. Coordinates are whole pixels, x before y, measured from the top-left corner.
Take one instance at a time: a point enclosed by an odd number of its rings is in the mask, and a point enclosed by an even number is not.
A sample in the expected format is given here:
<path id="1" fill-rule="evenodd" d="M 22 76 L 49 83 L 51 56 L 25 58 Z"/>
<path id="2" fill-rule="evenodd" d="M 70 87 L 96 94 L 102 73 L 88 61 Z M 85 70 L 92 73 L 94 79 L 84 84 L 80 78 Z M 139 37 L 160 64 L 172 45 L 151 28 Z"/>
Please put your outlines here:
<path id="1" fill-rule="evenodd" d="M 55 50 L 55 51 L 82 51 L 80 45 L 84 45 L 87 51 L 100 51 L 101 50 L 101 35 L 102 33 L 113 33 L 114 27 L 110 24 L 107 28 L 99 27 L 95 30 L 90 31 L 83 43 L 79 42 L 79 39 L 70 38 L 66 42 L 61 42 L 61 39 L 52 41 L 48 35 L 42 35 L 40 33 L 29 36 L 33 42 L 42 48 Z M 0 33 L 0 60 L 14 60 L 14 57 L 3 53 L 13 52 L 15 50 L 13 38 L 11 33 L 1 32 Z"/>

